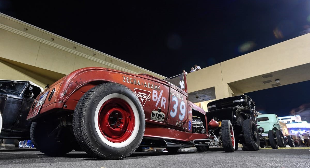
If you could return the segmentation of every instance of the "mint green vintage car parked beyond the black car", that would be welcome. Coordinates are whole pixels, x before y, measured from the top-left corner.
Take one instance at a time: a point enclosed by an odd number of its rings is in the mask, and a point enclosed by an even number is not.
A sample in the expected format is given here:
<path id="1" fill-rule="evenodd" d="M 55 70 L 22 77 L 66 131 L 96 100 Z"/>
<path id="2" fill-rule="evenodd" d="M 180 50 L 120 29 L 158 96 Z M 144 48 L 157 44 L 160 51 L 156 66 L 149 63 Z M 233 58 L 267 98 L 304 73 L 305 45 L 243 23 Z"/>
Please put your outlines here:
<path id="1" fill-rule="evenodd" d="M 282 134 L 278 116 L 275 114 L 263 114 L 257 116 L 260 147 L 271 146 L 277 149 L 278 146 L 285 148 L 286 140 Z"/>

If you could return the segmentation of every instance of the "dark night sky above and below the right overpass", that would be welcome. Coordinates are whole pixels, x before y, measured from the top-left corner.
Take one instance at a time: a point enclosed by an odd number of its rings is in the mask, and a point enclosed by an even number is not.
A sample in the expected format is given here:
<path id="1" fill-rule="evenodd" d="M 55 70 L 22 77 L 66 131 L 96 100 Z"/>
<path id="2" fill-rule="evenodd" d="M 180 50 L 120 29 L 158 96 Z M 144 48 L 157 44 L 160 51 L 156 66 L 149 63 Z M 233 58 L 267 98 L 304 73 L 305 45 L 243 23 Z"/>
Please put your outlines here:
<path id="1" fill-rule="evenodd" d="M 166 77 L 298 37 L 310 25 L 309 0 L 0 0 L 0 12 Z M 309 84 L 246 95 L 260 112 L 286 116 L 310 102 Z"/>

